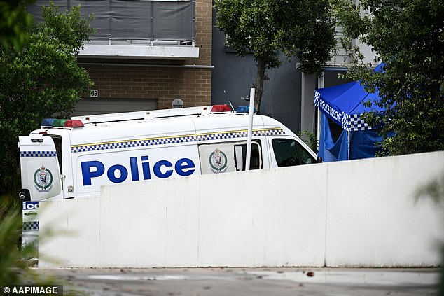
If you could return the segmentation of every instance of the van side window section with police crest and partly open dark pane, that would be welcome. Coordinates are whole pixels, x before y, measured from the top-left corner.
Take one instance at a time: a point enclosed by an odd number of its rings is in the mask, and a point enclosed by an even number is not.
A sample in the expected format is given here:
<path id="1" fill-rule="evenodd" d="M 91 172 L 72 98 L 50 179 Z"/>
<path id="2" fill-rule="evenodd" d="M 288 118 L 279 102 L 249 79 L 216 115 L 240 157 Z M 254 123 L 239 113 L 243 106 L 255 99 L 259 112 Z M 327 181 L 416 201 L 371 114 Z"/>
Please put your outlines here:
<path id="1" fill-rule="evenodd" d="M 211 143 L 199 146 L 202 174 L 218 174 L 228 171 L 245 171 L 247 141 Z M 260 141 L 251 142 L 250 169 L 262 169 Z"/>

